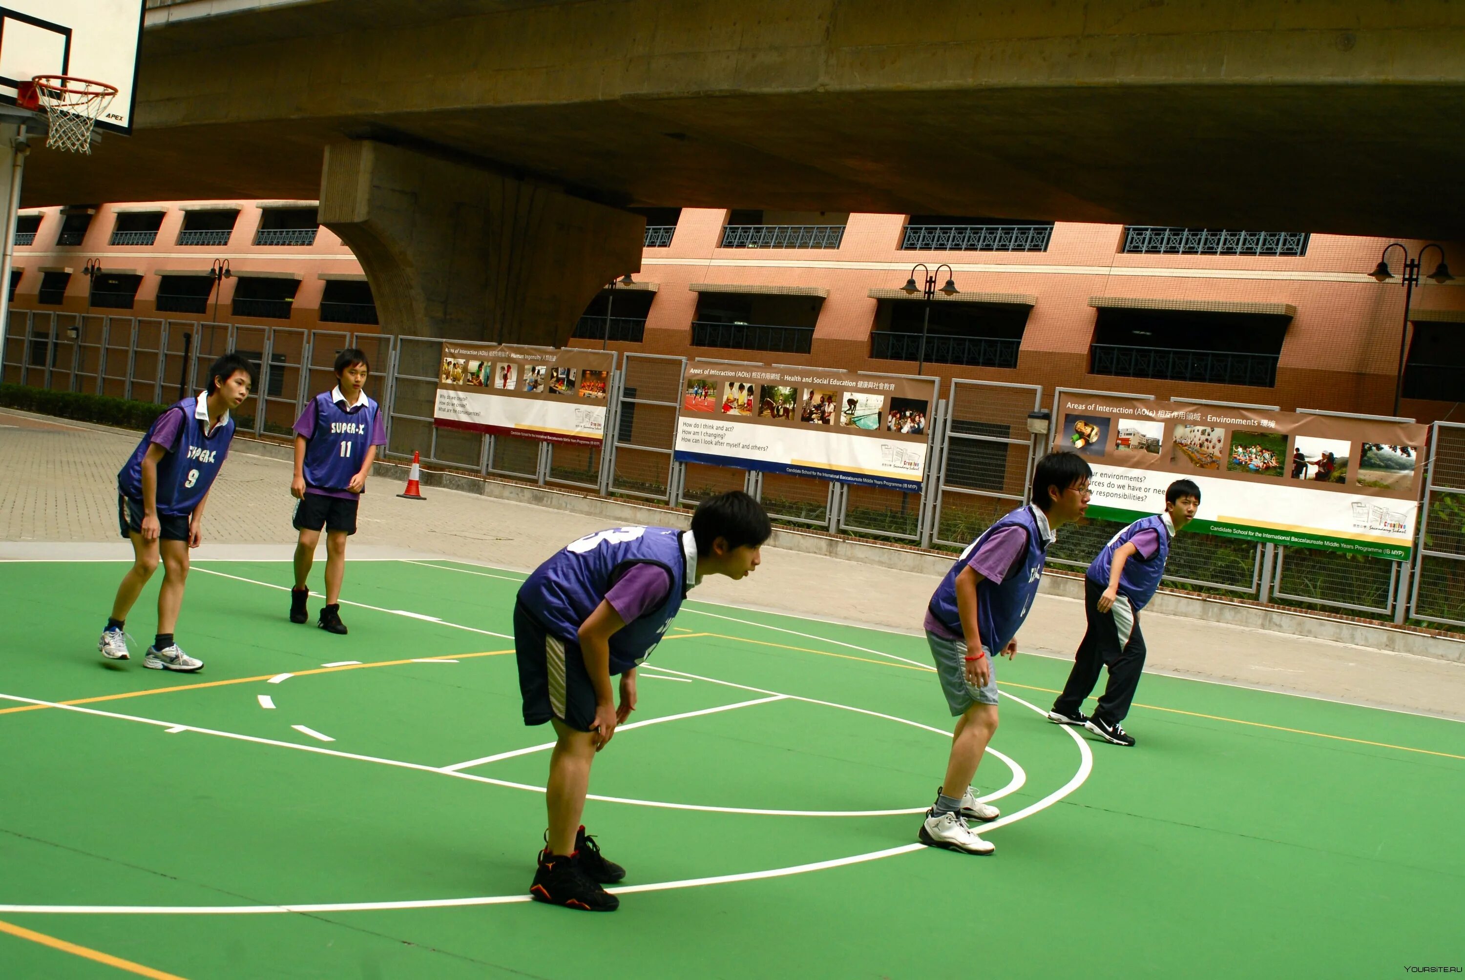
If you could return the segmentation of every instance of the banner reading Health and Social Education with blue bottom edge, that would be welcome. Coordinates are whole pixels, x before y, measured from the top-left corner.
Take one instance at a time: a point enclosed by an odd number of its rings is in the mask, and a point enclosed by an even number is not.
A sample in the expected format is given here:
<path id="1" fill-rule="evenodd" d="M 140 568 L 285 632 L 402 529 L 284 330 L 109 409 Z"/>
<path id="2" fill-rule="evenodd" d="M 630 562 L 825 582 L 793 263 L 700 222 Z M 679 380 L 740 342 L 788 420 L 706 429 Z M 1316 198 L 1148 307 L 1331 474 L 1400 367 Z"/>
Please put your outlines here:
<path id="1" fill-rule="evenodd" d="M 935 406 L 935 378 L 691 363 L 675 459 L 919 492 Z"/>

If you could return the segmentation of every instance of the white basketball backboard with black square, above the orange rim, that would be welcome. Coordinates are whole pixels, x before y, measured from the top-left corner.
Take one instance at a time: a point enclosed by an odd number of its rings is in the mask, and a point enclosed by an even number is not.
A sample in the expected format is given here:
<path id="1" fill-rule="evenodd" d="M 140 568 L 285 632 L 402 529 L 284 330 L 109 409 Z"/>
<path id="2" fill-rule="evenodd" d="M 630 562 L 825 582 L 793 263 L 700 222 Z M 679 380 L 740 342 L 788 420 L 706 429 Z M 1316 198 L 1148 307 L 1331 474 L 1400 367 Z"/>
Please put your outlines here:
<path id="1" fill-rule="evenodd" d="M 133 81 L 144 0 L 0 0 L 0 103 L 37 75 L 72 75 L 117 86 L 97 120 L 132 132 Z"/>

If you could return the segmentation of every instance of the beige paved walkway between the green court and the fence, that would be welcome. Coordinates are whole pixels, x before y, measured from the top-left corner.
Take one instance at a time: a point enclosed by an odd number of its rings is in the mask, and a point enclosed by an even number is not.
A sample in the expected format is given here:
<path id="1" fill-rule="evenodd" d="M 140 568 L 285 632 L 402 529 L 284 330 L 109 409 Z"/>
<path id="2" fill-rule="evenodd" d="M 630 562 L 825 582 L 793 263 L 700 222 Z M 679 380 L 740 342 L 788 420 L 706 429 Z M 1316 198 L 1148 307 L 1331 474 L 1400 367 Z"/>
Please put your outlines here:
<path id="1" fill-rule="evenodd" d="M 117 538 L 116 473 L 138 438 L 0 410 L 0 558 L 129 557 Z M 407 501 L 400 489 L 371 482 L 352 541 L 357 557 L 444 557 L 527 571 L 609 523 L 440 488 L 429 488 L 426 501 Z M 293 505 L 290 464 L 236 444 L 209 498 L 199 557 L 289 558 Z M 59 542 L 72 546 L 47 546 Z M 95 543 L 76 546 L 86 542 Z M 749 580 L 709 579 L 694 595 L 917 633 L 935 584 L 932 576 L 768 548 Z M 1024 653 L 1068 659 L 1083 627 L 1081 602 L 1043 595 L 1020 643 Z M 1465 721 L 1465 664 L 1153 612 L 1144 634 L 1157 672 Z"/>

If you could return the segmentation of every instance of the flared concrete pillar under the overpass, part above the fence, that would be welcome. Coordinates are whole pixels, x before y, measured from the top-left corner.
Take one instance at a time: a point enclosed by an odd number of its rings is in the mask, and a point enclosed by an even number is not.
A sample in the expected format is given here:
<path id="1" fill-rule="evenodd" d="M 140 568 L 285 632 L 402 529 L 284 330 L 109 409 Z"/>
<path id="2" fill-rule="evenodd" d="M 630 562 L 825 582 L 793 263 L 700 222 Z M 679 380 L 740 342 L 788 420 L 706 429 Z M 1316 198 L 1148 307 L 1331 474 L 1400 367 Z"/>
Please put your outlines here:
<path id="1" fill-rule="evenodd" d="M 555 188 L 374 141 L 327 146 L 321 224 L 371 281 L 385 333 L 563 346 L 646 221 Z"/>

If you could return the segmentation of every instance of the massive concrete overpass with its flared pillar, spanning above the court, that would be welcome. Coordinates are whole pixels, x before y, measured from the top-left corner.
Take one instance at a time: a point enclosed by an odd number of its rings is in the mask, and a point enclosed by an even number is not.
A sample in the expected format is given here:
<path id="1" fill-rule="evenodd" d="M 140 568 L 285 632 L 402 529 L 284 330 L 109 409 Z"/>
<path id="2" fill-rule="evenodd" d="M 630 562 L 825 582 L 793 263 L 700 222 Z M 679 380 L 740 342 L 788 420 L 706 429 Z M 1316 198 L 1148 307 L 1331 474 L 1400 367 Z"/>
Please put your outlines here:
<path id="1" fill-rule="evenodd" d="M 319 196 L 401 333 L 563 340 L 636 204 L 1465 229 L 1465 4 L 152 6 L 135 135 L 25 201 Z"/>

